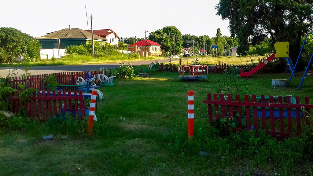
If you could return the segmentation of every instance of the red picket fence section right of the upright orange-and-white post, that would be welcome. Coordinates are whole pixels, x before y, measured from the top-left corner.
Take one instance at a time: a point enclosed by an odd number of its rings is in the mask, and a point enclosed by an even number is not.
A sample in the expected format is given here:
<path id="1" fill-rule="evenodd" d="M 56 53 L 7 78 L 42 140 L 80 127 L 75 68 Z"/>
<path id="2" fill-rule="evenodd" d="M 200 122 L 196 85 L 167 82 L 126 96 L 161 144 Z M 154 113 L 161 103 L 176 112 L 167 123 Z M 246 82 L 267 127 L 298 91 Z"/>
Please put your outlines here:
<path id="1" fill-rule="evenodd" d="M 218 100 L 218 94 L 215 93 L 213 94 L 213 100 L 211 98 L 211 93 L 208 93 L 208 99 L 203 100 L 204 104 L 208 104 L 208 118 L 211 125 L 213 123 L 213 115 L 216 120 L 219 120 L 220 117 L 225 118 L 228 116 L 231 122 L 234 119 L 238 120 L 236 131 L 242 129 L 250 130 L 253 125 L 254 129 L 263 129 L 273 136 L 300 134 L 301 123 L 310 126 L 310 109 L 313 109 L 313 105 L 309 104 L 308 96 L 305 97 L 305 104 L 300 104 L 299 96 L 295 97 L 295 104 L 291 104 L 290 96 L 287 96 L 286 103 L 283 103 L 282 96 L 278 96 L 278 103 L 274 103 L 273 96 L 269 96 L 269 102 L 265 102 L 264 96 L 261 96 L 261 102 L 257 102 L 255 95 L 252 95 L 252 102 L 249 101 L 248 95 L 244 95 L 243 102 L 240 101 L 240 95 L 236 95 L 236 101 L 233 101 L 231 94 L 228 94 L 227 98 L 225 98 L 224 94 L 220 94 L 220 100 Z M 261 116 L 258 116 L 257 107 L 261 107 Z M 266 107 L 269 107 L 269 119 L 265 115 Z M 279 118 L 275 118 L 274 108 L 279 108 Z M 287 111 L 287 118 L 284 118 L 283 110 Z M 291 117 L 291 111 L 296 111 L 295 118 Z M 301 118 L 301 111 L 304 112 L 305 118 Z M 236 116 L 236 113 L 239 113 L 239 116 Z M 250 115 L 251 113 L 253 115 Z M 246 116 L 246 128 L 242 125 L 242 116 Z"/>

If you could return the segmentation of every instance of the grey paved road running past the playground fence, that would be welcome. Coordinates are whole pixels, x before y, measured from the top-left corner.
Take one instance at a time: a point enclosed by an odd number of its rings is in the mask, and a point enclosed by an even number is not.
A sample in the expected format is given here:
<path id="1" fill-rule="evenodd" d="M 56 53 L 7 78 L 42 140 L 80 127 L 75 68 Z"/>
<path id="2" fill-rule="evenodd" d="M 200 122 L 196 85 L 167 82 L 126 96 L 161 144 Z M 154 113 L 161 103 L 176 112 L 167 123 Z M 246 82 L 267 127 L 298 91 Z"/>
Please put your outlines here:
<path id="1" fill-rule="evenodd" d="M 182 60 L 194 59 L 194 58 L 182 58 Z M 176 61 L 178 59 L 172 59 Z M 131 62 L 131 65 L 148 65 L 155 60 L 145 60 Z M 168 62 L 168 59 L 157 60 L 159 62 Z M 127 63 L 125 63 L 127 65 Z M 100 70 L 101 67 L 106 69 L 118 68 L 120 63 L 108 63 L 108 64 L 89 64 L 89 65 L 56 65 L 56 66 L 33 66 L 29 72 L 31 75 L 41 75 L 48 73 L 58 73 L 58 72 L 70 72 L 70 71 L 90 71 L 90 70 Z M 17 76 L 20 76 L 25 73 L 21 70 L 24 67 L 17 67 L 17 70 L 14 72 Z M 13 70 L 14 67 L 0 67 L 0 77 L 6 77 L 9 73 L 9 70 Z"/>

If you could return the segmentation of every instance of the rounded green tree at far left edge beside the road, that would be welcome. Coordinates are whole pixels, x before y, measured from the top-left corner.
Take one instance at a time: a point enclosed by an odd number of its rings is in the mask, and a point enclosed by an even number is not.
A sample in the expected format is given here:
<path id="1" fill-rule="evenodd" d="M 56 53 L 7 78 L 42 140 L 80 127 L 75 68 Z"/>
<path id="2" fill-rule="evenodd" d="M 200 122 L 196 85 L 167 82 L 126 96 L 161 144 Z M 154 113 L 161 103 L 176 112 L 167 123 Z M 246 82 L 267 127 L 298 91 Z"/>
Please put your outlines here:
<path id="1" fill-rule="evenodd" d="M 0 63 L 17 61 L 19 55 L 38 59 L 40 48 L 41 44 L 28 34 L 15 28 L 0 28 Z"/>

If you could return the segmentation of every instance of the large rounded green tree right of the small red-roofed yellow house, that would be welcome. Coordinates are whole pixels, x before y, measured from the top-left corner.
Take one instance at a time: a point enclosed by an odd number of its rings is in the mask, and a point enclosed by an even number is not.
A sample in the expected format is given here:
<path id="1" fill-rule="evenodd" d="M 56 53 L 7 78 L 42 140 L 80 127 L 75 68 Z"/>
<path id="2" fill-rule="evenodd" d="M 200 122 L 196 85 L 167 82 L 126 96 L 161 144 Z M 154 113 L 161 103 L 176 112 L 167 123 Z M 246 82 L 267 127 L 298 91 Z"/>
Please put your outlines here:
<path id="1" fill-rule="evenodd" d="M 182 33 L 175 26 L 166 26 L 149 34 L 149 39 L 161 44 L 163 49 L 174 54 L 174 38 L 176 54 L 182 51 Z"/>

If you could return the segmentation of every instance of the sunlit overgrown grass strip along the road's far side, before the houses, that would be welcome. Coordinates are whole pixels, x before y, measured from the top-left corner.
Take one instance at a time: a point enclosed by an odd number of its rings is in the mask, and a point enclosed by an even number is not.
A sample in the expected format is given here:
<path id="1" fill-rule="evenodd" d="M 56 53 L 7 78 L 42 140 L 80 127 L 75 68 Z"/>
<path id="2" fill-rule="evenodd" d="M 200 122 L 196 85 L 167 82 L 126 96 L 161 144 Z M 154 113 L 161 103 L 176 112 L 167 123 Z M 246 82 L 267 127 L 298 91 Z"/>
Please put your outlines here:
<path id="1" fill-rule="evenodd" d="M 45 66 L 45 65 L 83 65 L 83 64 L 104 64 L 104 63 L 114 63 L 121 62 L 123 60 L 125 63 L 131 61 L 142 61 L 142 60 L 155 60 L 153 56 L 150 57 L 128 57 L 127 54 L 124 55 L 107 55 L 105 57 L 95 57 L 90 55 L 74 55 L 65 56 L 62 59 L 56 59 L 54 62 L 52 60 L 39 60 L 34 62 L 22 62 L 22 63 L 10 63 L 10 64 L 0 64 L 0 66 Z"/>

